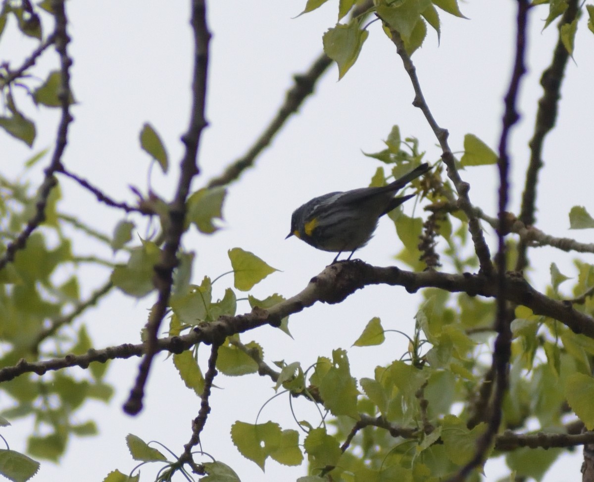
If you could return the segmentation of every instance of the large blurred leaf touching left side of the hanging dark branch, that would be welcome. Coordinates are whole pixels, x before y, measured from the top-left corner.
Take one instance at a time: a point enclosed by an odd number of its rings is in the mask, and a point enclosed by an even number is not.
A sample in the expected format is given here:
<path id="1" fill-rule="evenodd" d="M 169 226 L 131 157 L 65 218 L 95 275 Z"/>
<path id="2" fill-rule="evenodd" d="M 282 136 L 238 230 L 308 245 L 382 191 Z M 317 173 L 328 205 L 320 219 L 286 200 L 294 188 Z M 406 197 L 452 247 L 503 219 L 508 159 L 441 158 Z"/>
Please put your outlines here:
<path id="1" fill-rule="evenodd" d="M 159 262 L 161 250 L 151 241 L 131 250 L 128 263 L 113 269 L 111 281 L 124 293 L 142 298 L 153 291 L 154 265 Z"/>

